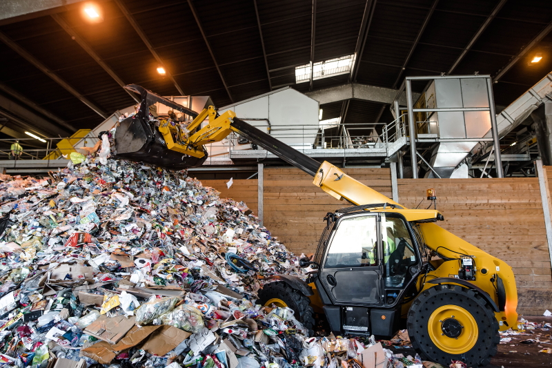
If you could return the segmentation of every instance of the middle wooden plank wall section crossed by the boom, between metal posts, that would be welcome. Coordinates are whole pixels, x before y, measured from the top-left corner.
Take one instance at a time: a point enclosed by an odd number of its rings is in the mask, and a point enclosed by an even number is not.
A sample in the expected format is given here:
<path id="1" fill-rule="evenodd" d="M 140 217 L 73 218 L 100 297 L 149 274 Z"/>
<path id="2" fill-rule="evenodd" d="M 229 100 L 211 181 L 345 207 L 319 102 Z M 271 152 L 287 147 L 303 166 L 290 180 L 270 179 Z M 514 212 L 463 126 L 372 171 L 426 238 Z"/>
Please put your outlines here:
<path id="1" fill-rule="evenodd" d="M 345 168 L 356 180 L 391 196 L 388 168 Z M 328 212 L 351 206 L 335 200 L 313 185 L 313 178 L 298 168 L 265 168 L 264 225 L 294 253 L 313 253 Z"/>

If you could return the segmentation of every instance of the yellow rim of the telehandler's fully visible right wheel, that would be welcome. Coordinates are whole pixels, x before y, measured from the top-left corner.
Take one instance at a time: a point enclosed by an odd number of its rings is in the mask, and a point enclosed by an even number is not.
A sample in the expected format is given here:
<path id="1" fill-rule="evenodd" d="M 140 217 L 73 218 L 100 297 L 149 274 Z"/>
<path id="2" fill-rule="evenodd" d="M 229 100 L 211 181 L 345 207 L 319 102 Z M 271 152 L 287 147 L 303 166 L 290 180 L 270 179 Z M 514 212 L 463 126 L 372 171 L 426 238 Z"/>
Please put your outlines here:
<path id="1" fill-rule="evenodd" d="M 427 330 L 433 344 L 449 354 L 464 354 L 477 342 L 479 329 L 469 311 L 457 305 L 444 305 L 431 313 Z"/>

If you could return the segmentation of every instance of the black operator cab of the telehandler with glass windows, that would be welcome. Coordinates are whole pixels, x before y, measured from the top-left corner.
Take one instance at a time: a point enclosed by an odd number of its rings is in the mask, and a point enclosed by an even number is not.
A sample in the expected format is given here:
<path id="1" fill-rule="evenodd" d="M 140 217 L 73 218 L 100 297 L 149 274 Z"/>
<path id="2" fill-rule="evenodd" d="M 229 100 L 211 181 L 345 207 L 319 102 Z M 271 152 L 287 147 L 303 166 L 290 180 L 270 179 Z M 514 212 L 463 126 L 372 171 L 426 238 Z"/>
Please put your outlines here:
<path id="1" fill-rule="evenodd" d="M 401 210 L 386 205 L 355 206 L 326 217 L 315 284 L 333 331 L 392 336 L 402 303 L 417 294 L 424 248 Z"/>

